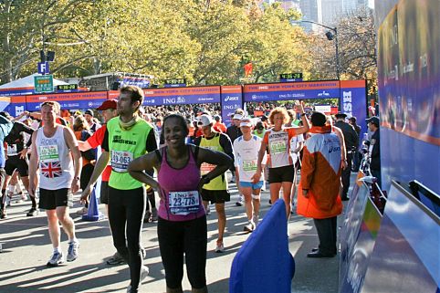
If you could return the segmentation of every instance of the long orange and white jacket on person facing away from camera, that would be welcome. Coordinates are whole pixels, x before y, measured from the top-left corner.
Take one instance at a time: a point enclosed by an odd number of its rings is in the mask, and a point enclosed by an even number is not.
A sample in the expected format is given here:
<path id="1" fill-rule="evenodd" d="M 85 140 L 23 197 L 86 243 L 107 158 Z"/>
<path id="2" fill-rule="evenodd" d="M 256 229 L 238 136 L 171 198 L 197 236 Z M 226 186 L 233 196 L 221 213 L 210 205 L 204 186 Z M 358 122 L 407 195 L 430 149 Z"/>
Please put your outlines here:
<path id="1" fill-rule="evenodd" d="M 340 201 L 340 141 L 330 127 L 312 127 L 302 157 L 297 213 L 314 219 L 342 213 Z M 309 190 L 309 198 L 302 194 Z"/>

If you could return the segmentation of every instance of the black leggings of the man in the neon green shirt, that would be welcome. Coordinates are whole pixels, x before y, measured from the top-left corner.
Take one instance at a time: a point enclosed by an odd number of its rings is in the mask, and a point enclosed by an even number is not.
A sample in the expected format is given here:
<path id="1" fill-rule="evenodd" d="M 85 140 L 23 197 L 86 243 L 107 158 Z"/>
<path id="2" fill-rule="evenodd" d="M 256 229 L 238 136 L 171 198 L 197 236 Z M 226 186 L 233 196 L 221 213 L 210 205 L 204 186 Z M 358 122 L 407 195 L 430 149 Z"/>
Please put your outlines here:
<path id="1" fill-rule="evenodd" d="M 143 187 L 119 190 L 109 186 L 109 222 L 113 245 L 129 264 L 131 289 L 138 288 L 141 279 L 141 228 L 144 213 Z"/>

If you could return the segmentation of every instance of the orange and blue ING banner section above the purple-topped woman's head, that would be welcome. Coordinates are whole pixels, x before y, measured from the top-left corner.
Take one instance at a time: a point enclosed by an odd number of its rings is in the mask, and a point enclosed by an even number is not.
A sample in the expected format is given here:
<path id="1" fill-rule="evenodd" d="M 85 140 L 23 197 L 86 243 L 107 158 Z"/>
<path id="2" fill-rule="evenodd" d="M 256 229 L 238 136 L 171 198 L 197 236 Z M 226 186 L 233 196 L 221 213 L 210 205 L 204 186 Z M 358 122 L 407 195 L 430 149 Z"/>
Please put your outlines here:
<path id="1" fill-rule="evenodd" d="M 220 102 L 220 87 L 144 89 L 144 106 L 205 104 Z"/>

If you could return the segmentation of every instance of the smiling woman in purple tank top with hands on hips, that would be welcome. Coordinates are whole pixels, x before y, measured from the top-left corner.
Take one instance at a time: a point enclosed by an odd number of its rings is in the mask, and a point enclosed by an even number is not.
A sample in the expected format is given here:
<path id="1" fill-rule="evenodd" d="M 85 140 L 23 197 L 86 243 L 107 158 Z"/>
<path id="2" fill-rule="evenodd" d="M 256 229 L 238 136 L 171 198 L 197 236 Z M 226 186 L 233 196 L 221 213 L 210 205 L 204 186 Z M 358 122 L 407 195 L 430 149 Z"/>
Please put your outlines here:
<path id="1" fill-rule="evenodd" d="M 223 152 L 185 144 L 188 128 L 177 114 L 163 120 L 165 146 L 137 158 L 129 165 L 131 176 L 159 191 L 157 234 L 165 268 L 166 291 L 183 292 L 183 254 L 192 292 L 206 288 L 206 215 L 200 191 L 205 183 L 225 173 L 232 159 Z M 215 164 L 200 177 L 203 162 Z M 157 182 L 144 170 L 156 168 Z"/>

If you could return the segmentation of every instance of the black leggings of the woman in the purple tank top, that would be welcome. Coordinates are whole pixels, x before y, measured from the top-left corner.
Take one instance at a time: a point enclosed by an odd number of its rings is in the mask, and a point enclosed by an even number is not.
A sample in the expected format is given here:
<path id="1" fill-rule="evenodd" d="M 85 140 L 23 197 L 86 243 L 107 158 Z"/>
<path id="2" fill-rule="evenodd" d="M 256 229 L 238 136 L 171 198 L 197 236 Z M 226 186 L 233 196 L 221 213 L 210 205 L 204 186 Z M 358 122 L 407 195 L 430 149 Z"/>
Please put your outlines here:
<path id="1" fill-rule="evenodd" d="M 206 229 L 206 216 L 183 222 L 159 217 L 157 235 L 168 288 L 182 287 L 183 253 L 191 286 L 206 286 Z"/>

